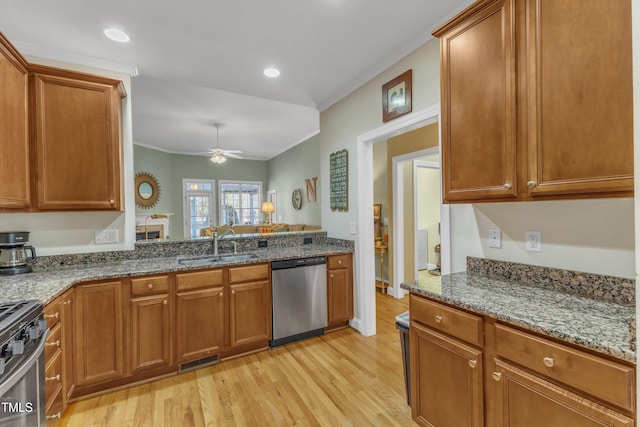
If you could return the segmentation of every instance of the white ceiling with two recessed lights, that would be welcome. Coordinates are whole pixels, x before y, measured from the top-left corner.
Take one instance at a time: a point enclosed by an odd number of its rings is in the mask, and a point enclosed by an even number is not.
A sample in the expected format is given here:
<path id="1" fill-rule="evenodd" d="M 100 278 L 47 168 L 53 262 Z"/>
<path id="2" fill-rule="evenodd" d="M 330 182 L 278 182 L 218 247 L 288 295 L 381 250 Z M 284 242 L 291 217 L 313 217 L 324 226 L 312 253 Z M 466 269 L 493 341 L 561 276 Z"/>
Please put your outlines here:
<path id="1" fill-rule="evenodd" d="M 319 111 L 412 52 L 472 0 L 2 0 L 25 55 L 137 74 L 133 139 L 270 159 L 319 132 Z M 127 44 L 102 31 L 117 27 Z M 275 66 L 282 74 L 262 74 Z"/>

